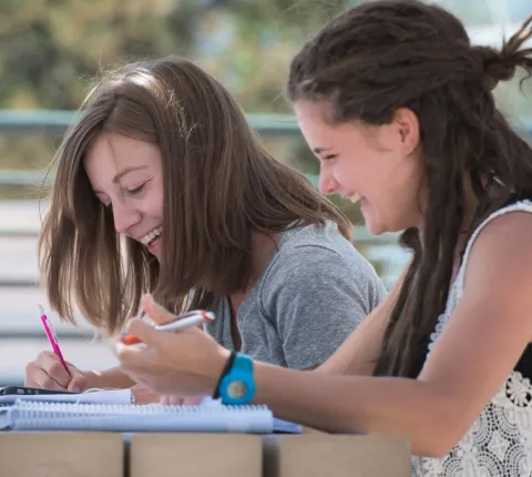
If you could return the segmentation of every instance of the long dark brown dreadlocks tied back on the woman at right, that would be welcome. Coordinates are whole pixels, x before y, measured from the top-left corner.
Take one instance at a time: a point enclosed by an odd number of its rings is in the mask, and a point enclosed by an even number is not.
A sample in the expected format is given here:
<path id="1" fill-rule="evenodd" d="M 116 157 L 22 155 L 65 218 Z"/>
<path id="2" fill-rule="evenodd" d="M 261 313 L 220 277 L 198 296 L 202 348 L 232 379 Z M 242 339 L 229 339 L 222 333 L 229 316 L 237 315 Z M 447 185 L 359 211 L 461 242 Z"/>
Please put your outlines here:
<path id="1" fill-rule="evenodd" d="M 518 65 L 530 78 L 532 49 L 521 47 L 532 35 L 531 21 L 497 51 L 472 47 L 462 23 L 439 7 L 372 1 L 334 19 L 293 60 L 289 100 L 326 100 L 336 123 L 386 124 L 399 108 L 409 108 L 419 120 L 429 189 L 423 233 L 410 229 L 401 236 L 413 257 L 385 334 L 377 375 L 412 375 L 419 347 L 444 309 L 466 220 L 466 181 L 485 211 L 485 176 L 507 184 L 507 195 L 513 187 L 518 197 L 532 196 L 531 148 L 512 131 L 492 94 Z"/>

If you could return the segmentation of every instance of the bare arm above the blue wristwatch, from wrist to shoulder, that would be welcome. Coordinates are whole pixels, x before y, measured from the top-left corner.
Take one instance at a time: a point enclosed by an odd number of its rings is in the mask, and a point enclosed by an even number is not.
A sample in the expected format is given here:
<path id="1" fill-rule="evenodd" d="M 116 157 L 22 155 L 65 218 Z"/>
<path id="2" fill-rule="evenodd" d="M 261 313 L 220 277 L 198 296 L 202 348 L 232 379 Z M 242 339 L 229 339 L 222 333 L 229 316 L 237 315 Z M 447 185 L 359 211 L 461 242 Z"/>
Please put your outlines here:
<path id="1" fill-rule="evenodd" d="M 480 234 L 462 300 L 418 379 L 330 376 L 257 363 L 256 402 L 308 426 L 406 436 L 415 454 L 444 455 L 531 341 L 531 243 L 532 216 L 524 213 L 499 217 Z"/>

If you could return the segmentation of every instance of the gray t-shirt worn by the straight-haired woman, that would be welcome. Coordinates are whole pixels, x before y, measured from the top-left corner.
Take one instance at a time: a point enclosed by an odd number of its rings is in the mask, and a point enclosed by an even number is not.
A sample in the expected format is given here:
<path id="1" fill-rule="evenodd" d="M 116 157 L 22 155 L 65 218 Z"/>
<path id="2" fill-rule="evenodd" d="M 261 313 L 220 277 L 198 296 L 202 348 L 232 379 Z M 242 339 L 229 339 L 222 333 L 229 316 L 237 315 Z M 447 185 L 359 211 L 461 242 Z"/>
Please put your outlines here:
<path id="1" fill-rule="evenodd" d="M 279 366 L 317 366 L 380 303 L 386 288 L 336 223 L 284 232 L 237 313 L 241 352 Z M 205 327 L 235 351 L 231 306 L 222 300 Z"/>

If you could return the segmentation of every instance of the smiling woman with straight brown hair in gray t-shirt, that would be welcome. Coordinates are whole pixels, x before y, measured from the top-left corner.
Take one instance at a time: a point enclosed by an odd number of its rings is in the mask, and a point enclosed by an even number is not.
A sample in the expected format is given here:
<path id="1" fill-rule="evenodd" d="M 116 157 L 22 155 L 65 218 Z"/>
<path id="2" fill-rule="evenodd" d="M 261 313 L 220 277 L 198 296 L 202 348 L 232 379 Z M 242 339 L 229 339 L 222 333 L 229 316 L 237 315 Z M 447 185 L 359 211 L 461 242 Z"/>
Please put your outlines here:
<path id="1" fill-rule="evenodd" d="M 48 297 L 115 334 L 152 292 L 214 311 L 218 343 L 298 369 L 325 362 L 383 297 L 348 220 L 263 148 L 214 78 L 181 58 L 104 78 L 68 131 L 40 240 Z M 349 309 L 349 313 L 345 313 Z M 120 369 L 70 375 L 53 353 L 27 385 L 129 387 Z"/>

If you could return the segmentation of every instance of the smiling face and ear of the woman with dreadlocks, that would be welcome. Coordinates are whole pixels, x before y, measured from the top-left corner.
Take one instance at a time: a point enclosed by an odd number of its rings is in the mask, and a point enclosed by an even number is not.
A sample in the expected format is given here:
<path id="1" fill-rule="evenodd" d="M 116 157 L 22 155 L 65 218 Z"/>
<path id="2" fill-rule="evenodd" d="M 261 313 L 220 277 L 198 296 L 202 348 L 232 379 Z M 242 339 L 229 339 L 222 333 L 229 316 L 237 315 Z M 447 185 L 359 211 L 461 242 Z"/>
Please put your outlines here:
<path id="1" fill-rule="evenodd" d="M 294 105 L 307 144 L 319 159 L 319 190 L 360 201 L 366 227 L 374 235 L 421 226 L 419 128 L 410 110 L 399 110 L 389 124 L 330 124 L 326 103 Z"/>

